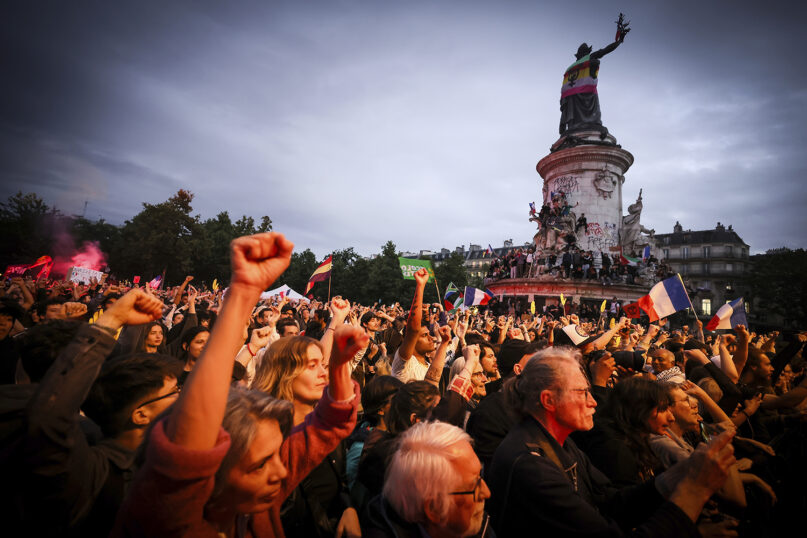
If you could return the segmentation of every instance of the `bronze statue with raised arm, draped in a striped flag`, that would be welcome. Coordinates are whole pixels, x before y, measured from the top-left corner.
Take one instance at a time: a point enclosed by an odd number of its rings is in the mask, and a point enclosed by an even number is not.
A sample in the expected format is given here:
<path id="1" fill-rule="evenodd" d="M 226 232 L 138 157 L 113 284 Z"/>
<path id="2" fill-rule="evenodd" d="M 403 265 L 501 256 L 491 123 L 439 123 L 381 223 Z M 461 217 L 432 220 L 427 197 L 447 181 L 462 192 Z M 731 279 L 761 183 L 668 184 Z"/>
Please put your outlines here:
<path id="1" fill-rule="evenodd" d="M 586 43 L 577 49 L 577 61 L 566 69 L 563 75 L 563 86 L 560 89 L 560 135 L 568 135 L 579 131 L 599 131 L 604 140 L 608 129 L 603 126 L 600 114 L 600 100 L 597 97 L 597 73 L 600 69 L 600 58 L 616 49 L 630 32 L 622 13 L 616 22 L 617 30 L 614 42 L 596 52 Z"/>

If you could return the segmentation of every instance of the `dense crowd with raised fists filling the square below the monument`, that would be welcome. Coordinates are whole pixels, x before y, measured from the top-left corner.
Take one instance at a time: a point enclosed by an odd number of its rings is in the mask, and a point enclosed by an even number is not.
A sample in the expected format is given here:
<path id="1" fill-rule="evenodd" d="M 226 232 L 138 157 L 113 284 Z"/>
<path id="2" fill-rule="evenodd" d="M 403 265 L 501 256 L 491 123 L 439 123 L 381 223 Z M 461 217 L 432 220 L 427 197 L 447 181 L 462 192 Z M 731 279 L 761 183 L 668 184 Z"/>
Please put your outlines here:
<path id="1" fill-rule="evenodd" d="M 3 281 L 9 536 L 801 527 L 807 333 L 447 312 L 423 269 L 408 308 L 262 299 L 292 249 L 236 239 L 226 292 Z"/>

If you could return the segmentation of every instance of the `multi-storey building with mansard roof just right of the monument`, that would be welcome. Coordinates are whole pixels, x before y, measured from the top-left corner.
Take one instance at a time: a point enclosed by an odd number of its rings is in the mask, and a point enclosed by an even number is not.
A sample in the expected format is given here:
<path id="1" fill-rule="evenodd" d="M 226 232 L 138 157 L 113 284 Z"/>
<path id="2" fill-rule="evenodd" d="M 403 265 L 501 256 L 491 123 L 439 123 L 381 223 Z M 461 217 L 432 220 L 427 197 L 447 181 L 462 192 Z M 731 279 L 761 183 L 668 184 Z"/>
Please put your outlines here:
<path id="1" fill-rule="evenodd" d="M 733 227 L 717 223 L 713 230 L 684 230 L 676 222 L 671 234 L 656 234 L 656 256 L 679 273 L 701 316 L 742 295 L 738 283 L 749 269 L 749 246 Z"/>

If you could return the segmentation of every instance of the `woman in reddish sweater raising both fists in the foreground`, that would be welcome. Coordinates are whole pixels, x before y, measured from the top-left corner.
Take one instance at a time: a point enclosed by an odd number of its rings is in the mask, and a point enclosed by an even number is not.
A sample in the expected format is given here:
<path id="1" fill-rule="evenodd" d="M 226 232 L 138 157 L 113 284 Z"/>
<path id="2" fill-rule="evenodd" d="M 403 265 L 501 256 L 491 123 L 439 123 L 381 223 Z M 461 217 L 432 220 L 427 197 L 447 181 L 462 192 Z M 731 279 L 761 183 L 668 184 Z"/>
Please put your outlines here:
<path id="1" fill-rule="evenodd" d="M 210 340 L 151 432 L 113 535 L 283 536 L 280 503 L 352 431 L 359 398 L 349 360 L 367 345 L 359 329 L 336 331 L 330 383 L 294 429 L 290 403 L 230 389 L 243 328 L 293 246 L 274 232 L 232 242 L 231 283 Z"/>

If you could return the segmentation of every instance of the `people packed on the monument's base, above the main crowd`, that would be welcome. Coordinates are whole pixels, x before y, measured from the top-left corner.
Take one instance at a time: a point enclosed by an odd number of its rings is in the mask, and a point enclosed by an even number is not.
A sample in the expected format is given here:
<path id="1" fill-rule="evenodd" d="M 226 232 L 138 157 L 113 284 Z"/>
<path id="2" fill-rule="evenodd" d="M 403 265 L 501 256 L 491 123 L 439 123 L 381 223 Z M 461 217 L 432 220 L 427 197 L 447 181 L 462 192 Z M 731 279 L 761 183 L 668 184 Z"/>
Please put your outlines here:
<path id="1" fill-rule="evenodd" d="M 584 250 L 575 244 L 560 251 L 535 246 L 515 248 L 491 260 L 485 283 L 506 278 L 551 278 L 593 280 L 603 285 L 652 285 L 675 274 L 665 261 L 654 256 L 635 259 L 628 263 L 618 253 Z"/>

